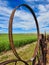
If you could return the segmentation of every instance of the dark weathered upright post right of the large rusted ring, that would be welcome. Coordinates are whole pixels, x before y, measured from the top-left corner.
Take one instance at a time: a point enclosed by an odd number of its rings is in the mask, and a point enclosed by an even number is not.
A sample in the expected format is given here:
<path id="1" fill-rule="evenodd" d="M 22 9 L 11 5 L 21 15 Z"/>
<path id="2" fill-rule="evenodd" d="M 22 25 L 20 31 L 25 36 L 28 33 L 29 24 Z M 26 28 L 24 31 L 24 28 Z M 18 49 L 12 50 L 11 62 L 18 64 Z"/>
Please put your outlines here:
<path id="1" fill-rule="evenodd" d="M 46 36 L 43 34 L 40 35 L 40 47 L 41 47 L 41 53 L 42 53 L 42 62 L 44 65 L 46 65 L 46 54 L 47 54 L 47 42 L 46 42 Z"/>

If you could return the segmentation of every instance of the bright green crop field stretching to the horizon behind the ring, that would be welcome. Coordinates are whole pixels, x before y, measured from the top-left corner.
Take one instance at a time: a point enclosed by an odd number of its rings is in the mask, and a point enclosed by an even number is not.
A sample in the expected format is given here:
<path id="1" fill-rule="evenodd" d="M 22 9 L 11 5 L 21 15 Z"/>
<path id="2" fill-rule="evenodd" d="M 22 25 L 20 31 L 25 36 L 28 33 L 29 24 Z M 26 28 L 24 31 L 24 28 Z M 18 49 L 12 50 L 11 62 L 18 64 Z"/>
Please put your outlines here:
<path id="1" fill-rule="evenodd" d="M 13 34 L 15 47 L 21 47 L 37 40 L 36 34 Z M 0 34 L 0 52 L 10 50 L 8 34 Z"/>

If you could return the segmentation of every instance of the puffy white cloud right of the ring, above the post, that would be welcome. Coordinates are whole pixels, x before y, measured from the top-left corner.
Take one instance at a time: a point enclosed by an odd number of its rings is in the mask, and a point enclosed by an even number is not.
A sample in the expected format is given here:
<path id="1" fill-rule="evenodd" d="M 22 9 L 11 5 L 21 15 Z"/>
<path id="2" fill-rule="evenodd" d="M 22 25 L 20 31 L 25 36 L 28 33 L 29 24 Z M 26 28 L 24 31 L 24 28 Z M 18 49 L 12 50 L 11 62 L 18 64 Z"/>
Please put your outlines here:
<path id="1" fill-rule="evenodd" d="M 49 10 L 48 5 L 39 5 L 39 16 L 38 16 L 38 22 L 41 32 L 49 32 L 49 27 L 46 27 L 49 25 Z"/>

